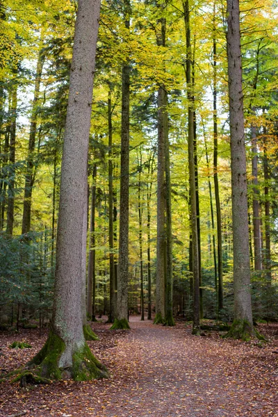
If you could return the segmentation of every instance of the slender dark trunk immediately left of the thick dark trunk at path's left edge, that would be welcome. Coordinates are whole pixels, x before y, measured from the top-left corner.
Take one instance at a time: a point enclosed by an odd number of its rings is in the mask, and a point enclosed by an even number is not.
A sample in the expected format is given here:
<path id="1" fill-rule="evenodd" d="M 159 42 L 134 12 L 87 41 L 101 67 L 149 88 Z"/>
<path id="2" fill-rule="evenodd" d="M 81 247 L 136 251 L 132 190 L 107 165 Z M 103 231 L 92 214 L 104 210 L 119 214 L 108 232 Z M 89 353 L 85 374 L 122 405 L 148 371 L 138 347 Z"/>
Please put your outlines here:
<path id="1" fill-rule="evenodd" d="M 108 92 L 108 212 L 109 212 L 109 277 L 110 277 L 110 305 L 108 322 L 113 323 L 115 319 L 115 265 L 114 265 L 114 238 L 113 238 L 113 126 L 112 126 L 112 104 L 111 89 Z"/>

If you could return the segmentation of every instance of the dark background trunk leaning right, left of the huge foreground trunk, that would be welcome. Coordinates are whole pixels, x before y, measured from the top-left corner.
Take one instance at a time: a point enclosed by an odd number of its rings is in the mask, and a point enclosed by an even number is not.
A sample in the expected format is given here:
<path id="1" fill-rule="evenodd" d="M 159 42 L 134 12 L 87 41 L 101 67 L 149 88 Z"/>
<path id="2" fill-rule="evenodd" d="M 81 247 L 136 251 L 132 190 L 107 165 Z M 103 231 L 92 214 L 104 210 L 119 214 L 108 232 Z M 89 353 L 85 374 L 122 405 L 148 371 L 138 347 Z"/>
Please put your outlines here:
<path id="1" fill-rule="evenodd" d="M 24 186 L 24 202 L 23 202 L 23 217 L 22 217 L 22 234 L 28 234 L 31 229 L 31 204 L 33 185 L 35 182 L 35 138 L 37 133 L 38 122 L 38 99 L 40 95 L 40 81 L 42 78 L 42 67 L 44 65 L 44 54 L 40 51 L 38 56 L 37 69 L 35 73 L 35 92 L 32 103 L 30 133 L 28 142 L 28 156 L 26 162 L 26 176 Z"/>

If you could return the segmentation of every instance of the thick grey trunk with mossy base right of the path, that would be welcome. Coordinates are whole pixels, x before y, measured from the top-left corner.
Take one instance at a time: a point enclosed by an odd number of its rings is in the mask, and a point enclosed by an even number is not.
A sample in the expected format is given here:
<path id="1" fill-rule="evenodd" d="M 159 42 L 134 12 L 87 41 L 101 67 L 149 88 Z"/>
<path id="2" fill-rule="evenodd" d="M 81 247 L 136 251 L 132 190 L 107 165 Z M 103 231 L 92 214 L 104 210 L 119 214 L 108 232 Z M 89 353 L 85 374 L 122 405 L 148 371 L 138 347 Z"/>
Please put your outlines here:
<path id="1" fill-rule="evenodd" d="M 254 335 L 254 327 L 251 303 L 239 0 L 227 0 L 227 56 L 234 238 L 234 322 L 228 336 L 247 340 Z"/>

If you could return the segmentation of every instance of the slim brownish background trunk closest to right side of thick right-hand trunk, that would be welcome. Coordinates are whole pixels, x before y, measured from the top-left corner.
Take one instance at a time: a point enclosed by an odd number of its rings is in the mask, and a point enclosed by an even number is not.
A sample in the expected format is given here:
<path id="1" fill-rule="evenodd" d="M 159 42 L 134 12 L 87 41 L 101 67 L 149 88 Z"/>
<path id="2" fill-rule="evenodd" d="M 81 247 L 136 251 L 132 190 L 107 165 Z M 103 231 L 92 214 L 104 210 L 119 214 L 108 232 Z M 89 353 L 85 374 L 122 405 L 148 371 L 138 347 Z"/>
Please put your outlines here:
<path id="1" fill-rule="evenodd" d="M 258 148 L 256 127 L 251 126 L 252 134 L 252 177 L 253 177 L 253 233 L 254 233 L 254 266 L 255 270 L 262 269 L 261 265 L 261 220 L 258 182 Z"/>

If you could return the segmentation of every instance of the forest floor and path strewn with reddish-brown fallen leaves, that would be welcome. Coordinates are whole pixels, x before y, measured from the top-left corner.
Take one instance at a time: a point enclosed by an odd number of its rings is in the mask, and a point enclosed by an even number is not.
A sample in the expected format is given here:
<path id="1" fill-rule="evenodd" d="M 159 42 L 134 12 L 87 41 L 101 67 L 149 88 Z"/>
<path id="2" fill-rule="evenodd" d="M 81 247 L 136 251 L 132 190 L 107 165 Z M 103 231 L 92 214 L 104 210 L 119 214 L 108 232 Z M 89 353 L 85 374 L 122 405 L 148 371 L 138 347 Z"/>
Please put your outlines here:
<path id="1" fill-rule="evenodd" d="M 111 373 L 91 382 L 28 386 L 0 384 L 0 416 L 28 417 L 242 417 L 278 416 L 278 325 L 260 325 L 270 343 L 222 339 L 216 332 L 192 336 L 190 325 L 152 325 L 131 317 L 130 331 L 92 324 L 99 341 L 89 342 Z M 47 330 L 0 334 L 0 368 L 10 371 L 31 359 Z M 11 350 L 13 341 L 31 349 Z"/>

